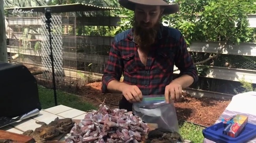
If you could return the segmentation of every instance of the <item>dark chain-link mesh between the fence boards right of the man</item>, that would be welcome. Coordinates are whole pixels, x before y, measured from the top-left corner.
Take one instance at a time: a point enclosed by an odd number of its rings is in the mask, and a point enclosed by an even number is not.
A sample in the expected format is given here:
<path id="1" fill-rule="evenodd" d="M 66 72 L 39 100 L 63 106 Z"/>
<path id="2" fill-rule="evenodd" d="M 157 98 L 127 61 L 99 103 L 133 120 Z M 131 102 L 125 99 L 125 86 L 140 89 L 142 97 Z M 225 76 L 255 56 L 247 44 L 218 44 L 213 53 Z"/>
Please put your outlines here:
<path id="1" fill-rule="evenodd" d="M 210 53 L 204 52 L 190 52 L 194 63 L 201 62 L 209 58 Z M 230 67 L 235 69 L 256 70 L 256 57 L 242 56 L 242 55 L 228 55 L 220 54 L 217 60 L 209 60 L 204 65 L 211 65 L 215 67 Z M 241 79 L 240 79 L 241 80 Z M 256 84 L 252 84 L 255 88 Z M 244 92 L 246 89 L 239 81 L 220 80 L 215 78 L 199 77 L 198 83 L 192 88 L 202 89 L 206 91 L 221 92 L 226 94 L 238 94 Z"/>

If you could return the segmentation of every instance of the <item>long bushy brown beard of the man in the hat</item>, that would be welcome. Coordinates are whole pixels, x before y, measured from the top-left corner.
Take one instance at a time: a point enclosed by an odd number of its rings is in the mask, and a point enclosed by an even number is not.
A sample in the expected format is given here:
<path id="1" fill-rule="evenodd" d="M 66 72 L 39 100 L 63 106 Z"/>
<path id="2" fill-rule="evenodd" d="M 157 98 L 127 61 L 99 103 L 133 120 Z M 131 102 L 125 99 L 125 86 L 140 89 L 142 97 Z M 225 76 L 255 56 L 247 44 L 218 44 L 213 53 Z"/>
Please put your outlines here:
<path id="1" fill-rule="evenodd" d="M 134 27 L 134 40 L 139 45 L 141 50 L 148 49 L 153 43 L 155 43 L 157 37 L 157 31 L 159 31 L 160 24 L 157 22 L 155 25 L 152 23 L 146 23 L 148 25 L 148 29 L 144 28 L 143 25 L 145 23 L 135 22 L 133 23 Z"/>

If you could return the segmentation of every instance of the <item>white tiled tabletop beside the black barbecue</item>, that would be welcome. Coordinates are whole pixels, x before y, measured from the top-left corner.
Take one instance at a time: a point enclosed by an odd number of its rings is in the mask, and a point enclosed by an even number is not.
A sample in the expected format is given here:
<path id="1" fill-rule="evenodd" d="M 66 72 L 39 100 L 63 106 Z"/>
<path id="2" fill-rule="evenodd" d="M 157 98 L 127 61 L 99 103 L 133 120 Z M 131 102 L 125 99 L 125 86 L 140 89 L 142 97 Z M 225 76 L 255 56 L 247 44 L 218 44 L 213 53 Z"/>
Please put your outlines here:
<path id="1" fill-rule="evenodd" d="M 45 123 L 50 123 L 55 118 L 72 118 L 72 119 L 83 119 L 86 112 L 73 109 L 64 105 L 54 106 L 48 109 L 42 109 L 39 111 L 39 115 L 31 117 L 23 121 L 17 121 L 6 127 L 0 128 L 0 130 L 7 130 L 9 132 L 15 132 L 17 134 L 22 134 L 26 130 L 34 130 L 41 125 L 37 124 L 36 121 L 42 121 Z M 67 136 L 60 139 L 64 141 Z"/>

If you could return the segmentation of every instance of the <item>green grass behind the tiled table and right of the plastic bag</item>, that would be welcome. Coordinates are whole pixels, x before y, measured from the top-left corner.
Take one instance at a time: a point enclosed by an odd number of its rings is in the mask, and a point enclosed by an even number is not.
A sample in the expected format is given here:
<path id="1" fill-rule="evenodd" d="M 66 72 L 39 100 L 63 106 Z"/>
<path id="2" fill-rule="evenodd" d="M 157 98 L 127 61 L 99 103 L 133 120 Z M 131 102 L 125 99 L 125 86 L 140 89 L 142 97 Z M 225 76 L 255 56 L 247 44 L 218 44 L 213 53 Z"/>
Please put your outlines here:
<path id="1" fill-rule="evenodd" d="M 54 94 L 52 89 L 38 86 L 38 91 L 39 100 L 43 109 L 55 106 Z M 57 102 L 58 105 L 61 104 L 83 111 L 97 109 L 97 107 L 94 107 L 92 104 L 87 103 L 83 97 L 62 91 L 57 91 Z M 198 125 L 185 122 L 183 125 L 180 125 L 179 132 L 184 139 L 189 139 L 193 143 L 203 142 L 204 136 L 202 135 L 202 128 Z"/>

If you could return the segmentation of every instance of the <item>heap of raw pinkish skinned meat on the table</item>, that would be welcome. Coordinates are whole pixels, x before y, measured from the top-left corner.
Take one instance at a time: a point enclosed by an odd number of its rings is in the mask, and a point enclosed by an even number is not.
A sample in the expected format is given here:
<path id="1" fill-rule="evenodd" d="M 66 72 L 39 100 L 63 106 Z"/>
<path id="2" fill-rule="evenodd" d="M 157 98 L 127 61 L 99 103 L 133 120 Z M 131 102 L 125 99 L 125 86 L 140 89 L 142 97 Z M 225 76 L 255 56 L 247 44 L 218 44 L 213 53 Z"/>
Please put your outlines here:
<path id="1" fill-rule="evenodd" d="M 149 127 L 138 116 L 125 109 L 110 109 L 100 105 L 75 123 L 66 143 L 138 143 Z"/>

